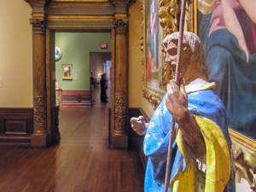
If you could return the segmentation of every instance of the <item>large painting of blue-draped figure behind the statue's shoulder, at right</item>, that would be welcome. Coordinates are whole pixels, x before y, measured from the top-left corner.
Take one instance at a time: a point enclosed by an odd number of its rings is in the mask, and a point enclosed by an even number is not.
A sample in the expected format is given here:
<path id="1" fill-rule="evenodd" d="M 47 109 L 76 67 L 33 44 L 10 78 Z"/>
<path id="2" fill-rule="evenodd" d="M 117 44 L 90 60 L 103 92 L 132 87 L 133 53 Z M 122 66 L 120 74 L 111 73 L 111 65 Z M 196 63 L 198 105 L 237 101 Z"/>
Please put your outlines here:
<path id="1" fill-rule="evenodd" d="M 256 9 L 253 1 L 199 0 L 196 22 L 208 76 L 217 84 L 230 128 L 256 139 L 256 15 L 252 6 Z"/>

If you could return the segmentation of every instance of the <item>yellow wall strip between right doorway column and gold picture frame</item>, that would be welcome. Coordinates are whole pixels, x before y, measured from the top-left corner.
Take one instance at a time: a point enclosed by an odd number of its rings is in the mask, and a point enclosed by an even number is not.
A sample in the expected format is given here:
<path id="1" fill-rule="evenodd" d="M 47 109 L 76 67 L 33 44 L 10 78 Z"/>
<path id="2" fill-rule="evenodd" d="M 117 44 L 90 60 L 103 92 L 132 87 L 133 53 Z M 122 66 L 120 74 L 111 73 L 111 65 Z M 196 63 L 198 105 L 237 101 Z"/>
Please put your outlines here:
<path id="1" fill-rule="evenodd" d="M 129 22 L 129 108 L 143 108 L 151 118 L 153 108 L 143 98 L 143 51 L 140 49 L 140 37 L 143 35 L 143 14 L 141 5 L 143 0 L 137 0 L 130 8 Z"/>

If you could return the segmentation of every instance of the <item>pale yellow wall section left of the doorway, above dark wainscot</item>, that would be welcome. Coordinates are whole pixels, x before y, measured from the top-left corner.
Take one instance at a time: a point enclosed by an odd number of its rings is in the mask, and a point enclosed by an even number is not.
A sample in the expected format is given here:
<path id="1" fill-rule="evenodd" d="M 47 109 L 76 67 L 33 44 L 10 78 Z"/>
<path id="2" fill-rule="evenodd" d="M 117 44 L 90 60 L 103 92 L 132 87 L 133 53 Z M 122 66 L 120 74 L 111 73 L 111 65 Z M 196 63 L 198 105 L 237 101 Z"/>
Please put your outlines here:
<path id="1" fill-rule="evenodd" d="M 31 13 L 23 0 L 0 3 L 0 108 L 32 107 Z"/>

